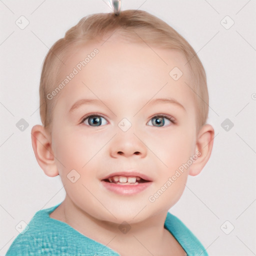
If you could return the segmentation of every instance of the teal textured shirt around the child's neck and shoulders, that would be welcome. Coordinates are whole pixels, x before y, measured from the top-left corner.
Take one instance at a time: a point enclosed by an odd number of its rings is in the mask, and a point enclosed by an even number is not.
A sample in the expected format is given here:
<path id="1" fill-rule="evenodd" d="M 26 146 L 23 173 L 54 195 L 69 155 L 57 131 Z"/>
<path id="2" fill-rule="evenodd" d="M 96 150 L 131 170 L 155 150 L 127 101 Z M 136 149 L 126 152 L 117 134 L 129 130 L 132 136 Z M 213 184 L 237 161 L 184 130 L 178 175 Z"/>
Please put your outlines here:
<path id="1" fill-rule="evenodd" d="M 37 211 L 28 223 L 28 229 L 25 229 L 23 234 L 18 234 L 11 243 L 6 256 L 120 256 L 114 250 L 84 236 L 68 224 L 49 217 L 59 204 Z M 169 212 L 164 226 L 188 256 L 208 255 L 192 232 Z"/>

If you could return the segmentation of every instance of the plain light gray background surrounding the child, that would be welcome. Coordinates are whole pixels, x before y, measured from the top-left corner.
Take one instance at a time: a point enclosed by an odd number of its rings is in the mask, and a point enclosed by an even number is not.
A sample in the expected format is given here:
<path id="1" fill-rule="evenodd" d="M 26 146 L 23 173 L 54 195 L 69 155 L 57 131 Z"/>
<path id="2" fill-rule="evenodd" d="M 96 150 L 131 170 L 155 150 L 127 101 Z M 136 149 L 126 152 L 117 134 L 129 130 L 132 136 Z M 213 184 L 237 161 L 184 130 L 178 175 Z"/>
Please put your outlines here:
<path id="1" fill-rule="evenodd" d="M 38 87 L 48 48 L 87 14 L 110 12 L 107 0 L 0 0 L 0 255 L 17 236 L 15 226 L 64 199 L 60 178 L 36 162 L 30 131 L 39 123 Z M 255 247 L 255 0 L 123 0 L 176 29 L 198 53 L 207 74 L 209 119 L 215 129 L 211 158 L 189 176 L 171 208 L 209 255 L 256 255 Z M 29 24 L 15 21 L 24 15 Z M 231 20 L 223 19 L 228 15 Z M 20 131 L 24 118 L 29 126 Z M 226 118 L 234 126 L 226 131 Z M 222 229 L 220 226 L 226 222 Z M 228 232 L 225 234 L 222 230 Z"/>

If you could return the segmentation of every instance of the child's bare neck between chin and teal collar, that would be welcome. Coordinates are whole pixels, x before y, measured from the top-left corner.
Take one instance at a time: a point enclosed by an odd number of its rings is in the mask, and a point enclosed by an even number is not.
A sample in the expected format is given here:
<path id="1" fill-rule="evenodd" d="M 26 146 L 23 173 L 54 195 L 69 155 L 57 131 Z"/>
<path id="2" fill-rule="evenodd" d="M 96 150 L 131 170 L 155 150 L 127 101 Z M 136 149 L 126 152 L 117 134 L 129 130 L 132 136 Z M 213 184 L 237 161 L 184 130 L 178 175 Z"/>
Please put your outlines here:
<path id="1" fill-rule="evenodd" d="M 178 245 L 163 227 L 166 214 L 167 211 L 163 211 L 140 222 L 120 224 L 87 214 L 66 196 L 50 217 L 67 223 L 81 234 L 110 247 L 122 256 L 157 255 L 161 249 L 162 252 L 168 251 L 167 254 L 170 255 L 172 247 Z"/>

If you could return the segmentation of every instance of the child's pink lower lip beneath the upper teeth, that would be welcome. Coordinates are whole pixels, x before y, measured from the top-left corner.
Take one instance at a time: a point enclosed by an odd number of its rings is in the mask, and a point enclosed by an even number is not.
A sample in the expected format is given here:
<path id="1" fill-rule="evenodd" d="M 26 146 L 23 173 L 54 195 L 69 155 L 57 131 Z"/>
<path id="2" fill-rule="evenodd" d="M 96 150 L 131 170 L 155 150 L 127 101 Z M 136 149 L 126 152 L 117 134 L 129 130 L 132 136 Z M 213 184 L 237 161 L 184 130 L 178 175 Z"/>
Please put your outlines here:
<path id="1" fill-rule="evenodd" d="M 138 183 L 136 185 L 120 185 L 112 182 L 106 182 L 103 180 L 101 182 L 106 189 L 122 195 L 137 194 L 146 189 L 152 183 L 151 181 L 148 181 Z"/>

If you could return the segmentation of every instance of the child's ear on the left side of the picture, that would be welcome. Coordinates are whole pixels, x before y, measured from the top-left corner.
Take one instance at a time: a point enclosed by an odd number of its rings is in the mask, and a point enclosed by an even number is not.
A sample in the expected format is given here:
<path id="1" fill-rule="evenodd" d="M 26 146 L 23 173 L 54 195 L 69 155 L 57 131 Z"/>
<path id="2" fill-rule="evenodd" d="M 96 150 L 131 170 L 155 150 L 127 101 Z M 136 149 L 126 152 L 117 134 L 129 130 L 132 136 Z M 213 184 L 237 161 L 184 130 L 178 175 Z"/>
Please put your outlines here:
<path id="1" fill-rule="evenodd" d="M 49 177 L 58 175 L 55 157 L 51 149 L 51 139 L 42 125 L 34 125 L 31 129 L 31 140 L 35 158 Z"/>

